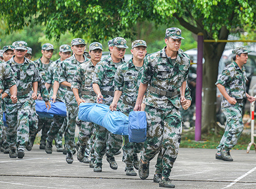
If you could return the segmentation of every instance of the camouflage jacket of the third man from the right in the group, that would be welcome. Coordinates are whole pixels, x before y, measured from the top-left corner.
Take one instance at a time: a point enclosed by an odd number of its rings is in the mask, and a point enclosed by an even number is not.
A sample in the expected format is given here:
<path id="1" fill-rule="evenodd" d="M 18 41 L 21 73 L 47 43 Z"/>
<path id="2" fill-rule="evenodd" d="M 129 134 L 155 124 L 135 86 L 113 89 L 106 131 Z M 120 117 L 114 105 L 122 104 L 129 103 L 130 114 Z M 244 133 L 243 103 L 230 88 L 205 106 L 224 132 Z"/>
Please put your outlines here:
<path id="1" fill-rule="evenodd" d="M 125 61 L 121 59 L 121 64 L 123 64 L 124 62 Z M 114 78 L 115 78 L 117 67 L 118 66 L 114 64 L 111 58 L 111 55 L 101 60 L 95 66 L 92 83 L 97 83 L 101 91 L 102 90 L 114 91 L 115 90 Z M 113 97 L 109 95 L 102 95 L 102 96 L 105 99 L 104 102 L 110 105 L 113 100 Z"/>

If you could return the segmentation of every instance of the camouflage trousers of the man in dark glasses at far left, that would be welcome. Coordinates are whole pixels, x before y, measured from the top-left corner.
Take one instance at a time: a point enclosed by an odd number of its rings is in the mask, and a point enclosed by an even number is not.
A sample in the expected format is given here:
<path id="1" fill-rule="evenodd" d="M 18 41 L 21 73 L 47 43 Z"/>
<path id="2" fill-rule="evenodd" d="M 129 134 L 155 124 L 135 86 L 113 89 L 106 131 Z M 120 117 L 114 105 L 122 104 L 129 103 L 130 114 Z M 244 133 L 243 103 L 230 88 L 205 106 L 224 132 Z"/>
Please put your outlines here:
<path id="1" fill-rule="evenodd" d="M 29 139 L 29 102 L 12 104 L 10 99 L 6 103 L 7 142 L 10 148 L 17 146 L 18 150 L 25 150 Z"/>

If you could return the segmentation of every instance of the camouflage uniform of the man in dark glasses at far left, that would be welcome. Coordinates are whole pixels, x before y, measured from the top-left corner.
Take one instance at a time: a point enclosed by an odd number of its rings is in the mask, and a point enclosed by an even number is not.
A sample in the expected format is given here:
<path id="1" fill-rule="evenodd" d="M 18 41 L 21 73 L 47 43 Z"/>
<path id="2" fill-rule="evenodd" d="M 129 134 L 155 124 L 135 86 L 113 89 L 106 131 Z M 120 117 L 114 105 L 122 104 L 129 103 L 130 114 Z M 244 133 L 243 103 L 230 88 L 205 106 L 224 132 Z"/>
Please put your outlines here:
<path id="1" fill-rule="evenodd" d="M 7 63 L 11 65 L 14 72 L 18 91 L 17 104 L 12 104 L 10 98 L 5 98 L 6 122 L 8 125 L 7 141 L 11 148 L 15 148 L 15 140 L 17 140 L 18 150 L 25 150 L 29 139 L 30 91 L 32 83 L 38 82 L 38 70 L 27 58 L 25 58 L 23 64 L 16 64 L 14 57 L 7 61 Z"/>

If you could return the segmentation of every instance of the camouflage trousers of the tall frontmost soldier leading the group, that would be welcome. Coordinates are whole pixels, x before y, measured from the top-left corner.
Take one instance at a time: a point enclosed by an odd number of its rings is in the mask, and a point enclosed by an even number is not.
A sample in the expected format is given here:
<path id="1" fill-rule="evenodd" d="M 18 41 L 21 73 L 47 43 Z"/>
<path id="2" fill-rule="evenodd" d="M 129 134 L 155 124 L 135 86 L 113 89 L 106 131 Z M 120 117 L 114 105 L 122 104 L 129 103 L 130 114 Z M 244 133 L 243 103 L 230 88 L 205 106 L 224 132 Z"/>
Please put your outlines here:
<path id="1" fill-rule="evenodd" d="M 146 106 L 147 138 L 144 142 L 142 160 L 149 162 L 160 149 L 162 151 L 162 176 L 168 178 L 178 156 L 182 132 L 179 109 L 168 106 L 160 110 Z"/>

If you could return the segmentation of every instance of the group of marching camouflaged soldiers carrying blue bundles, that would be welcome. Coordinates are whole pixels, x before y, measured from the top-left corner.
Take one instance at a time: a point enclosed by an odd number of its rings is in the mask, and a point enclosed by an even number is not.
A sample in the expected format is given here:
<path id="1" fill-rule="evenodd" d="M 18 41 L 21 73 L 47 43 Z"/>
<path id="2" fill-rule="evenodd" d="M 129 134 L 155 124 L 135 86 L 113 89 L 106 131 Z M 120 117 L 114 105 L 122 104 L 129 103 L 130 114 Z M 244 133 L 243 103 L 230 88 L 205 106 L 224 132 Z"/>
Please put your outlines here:
<path id="1" fill-rule="evenodd" d="M 55 140 L 57 151 L 66 154 L 67 163 L 74 161 L 77 150 L 77 159 L 90 163 L 94 172 L 102 171 L 104 155 L 110 168 L 116 170 L 114 155 L 122 148 L 126 175 L 136 176 L 135 168 L 140 178 L 146 179 L 150 160 L 158 155 L 154 182 L 161 187 L 175 187 L 169 175 L 181 140 L 179 109 L 186 110 L 191 104 L 186 85 L 190 63 L 180 50 L 181 39 L 184 38 L 180 29 L 168 28 L 166 46 L 147 56 L 146 41 L 135 40 L 131 49 L 133 58 L 127 62 L 123 57 L 128 46 L 122 37 L 109 41 L 110 54 L 104 59 L 101 59 L 103 49 L 99 42 L 89 45 L 89 56 L 86 56 L 86 43 L 81 38 L 73 39 L 71 46 L 61 45 L 60 58 L 54 62 L 51 60 L 54 47 L 50 43 L 42 45 L 42 56 L 34 62 L 30 60 L 32 49 L 27 42 L 15 41 L 4 46 L 3 60 L 0 60 L 1 115 L 5 112 L 8 127 L 1 123 L 3 152 L 9 153 L 10 158 L 23 158 L 25 149 L 32 150 L 36 134 L 41 130 L 40 149 L 51 154 Z M 65 103 L 67 116 L 38 117 L 35 100 L 45 101 L 48 109 L 52 103 Z M 131 111 L 145 111 L 146 141 L 130 143 L 128 136 L 79 120 L 80 103 L 104 103 L 110 110 L 119 109 L 126 115 Z M 79 128 L 77 143 L 76 126 Z"/>

